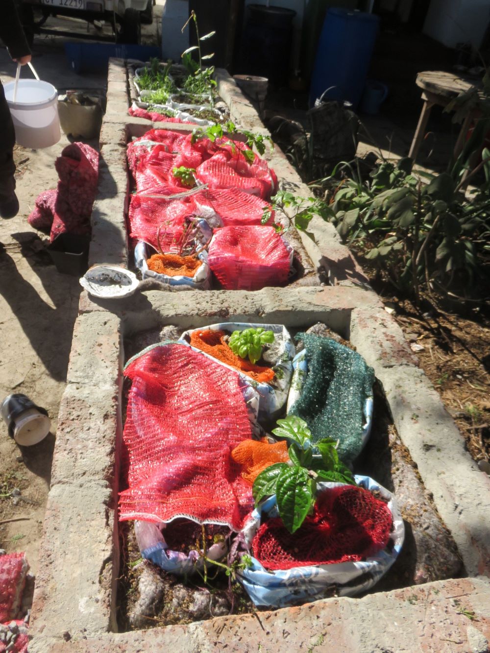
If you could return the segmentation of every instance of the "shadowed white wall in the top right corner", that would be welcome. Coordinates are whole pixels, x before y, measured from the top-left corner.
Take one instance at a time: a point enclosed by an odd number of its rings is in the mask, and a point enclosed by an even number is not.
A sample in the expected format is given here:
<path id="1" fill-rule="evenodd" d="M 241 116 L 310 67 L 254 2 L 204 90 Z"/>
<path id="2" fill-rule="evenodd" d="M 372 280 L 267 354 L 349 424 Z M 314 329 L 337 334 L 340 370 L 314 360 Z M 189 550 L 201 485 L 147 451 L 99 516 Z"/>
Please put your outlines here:
<path id="1" fill-rule="evenodd" d="M 490 20 L 489 0 L 431 0 L 423 31 L 448 48 L 482 44 Z"/>

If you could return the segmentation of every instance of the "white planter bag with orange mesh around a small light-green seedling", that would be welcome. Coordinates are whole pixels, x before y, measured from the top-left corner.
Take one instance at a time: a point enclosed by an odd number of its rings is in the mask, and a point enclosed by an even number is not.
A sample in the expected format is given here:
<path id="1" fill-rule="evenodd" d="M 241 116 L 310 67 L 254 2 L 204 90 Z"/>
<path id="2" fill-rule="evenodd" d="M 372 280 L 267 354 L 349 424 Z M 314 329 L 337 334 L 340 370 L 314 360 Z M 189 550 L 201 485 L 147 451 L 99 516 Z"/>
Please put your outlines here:
<path id="1" fill-rule="evenodd" d="M 257 364 L 236 356 L 225 340 L 233 331 L 251 327 L 263 327 L 274 333 L 274 342 L 265 345 L 262 360 Z M 295 347 L 283 325 L 223 322 L 185 331 L 179 342 L 189 345 L 195 351 L 202 351 L 229 370 L 236 370 L 245 383 L 252 385 L 259 396 L 260 420 L 275 419 L 284 409 L 293 374 Z"/>

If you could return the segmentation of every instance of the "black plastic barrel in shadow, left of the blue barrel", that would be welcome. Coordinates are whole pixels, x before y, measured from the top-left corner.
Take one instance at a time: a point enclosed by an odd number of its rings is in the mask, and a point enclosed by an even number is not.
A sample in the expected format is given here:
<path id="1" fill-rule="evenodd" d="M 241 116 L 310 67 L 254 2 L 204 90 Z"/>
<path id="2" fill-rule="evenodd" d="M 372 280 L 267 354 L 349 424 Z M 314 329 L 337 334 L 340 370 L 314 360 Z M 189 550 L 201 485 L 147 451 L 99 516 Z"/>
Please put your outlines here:
<path id="1" fill-rule="evenodd" d="M 284 7 L 248 5 L 241 41 L 242 69 L 267 77 L 276 86 L 287 84 L 296 12 Z"/>

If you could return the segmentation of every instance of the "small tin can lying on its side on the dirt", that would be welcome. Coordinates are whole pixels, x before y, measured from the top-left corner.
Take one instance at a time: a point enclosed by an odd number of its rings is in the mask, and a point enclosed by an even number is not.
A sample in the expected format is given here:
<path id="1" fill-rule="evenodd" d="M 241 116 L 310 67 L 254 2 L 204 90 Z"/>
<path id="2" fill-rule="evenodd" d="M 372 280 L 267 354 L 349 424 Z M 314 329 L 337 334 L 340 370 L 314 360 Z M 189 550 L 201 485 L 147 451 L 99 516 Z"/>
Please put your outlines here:
<path id="1" fill-rule="evenodd" d="M 5 397 L 0 413 L 8 426 L 8 435 L 18 445 L 35 445 L 50 432 L 48 411 L 36 406 L 25 394 L 9 394 Z"/>

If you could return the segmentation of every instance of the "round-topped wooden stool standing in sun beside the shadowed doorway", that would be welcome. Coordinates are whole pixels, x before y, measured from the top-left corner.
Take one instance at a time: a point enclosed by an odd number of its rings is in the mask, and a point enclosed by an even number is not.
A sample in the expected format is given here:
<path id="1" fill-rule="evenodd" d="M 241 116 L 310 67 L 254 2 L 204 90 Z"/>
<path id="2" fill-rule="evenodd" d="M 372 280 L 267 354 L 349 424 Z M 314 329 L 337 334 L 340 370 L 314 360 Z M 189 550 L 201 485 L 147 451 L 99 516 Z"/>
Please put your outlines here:
<path id="1" fill-rule="evenodd" d="M 434 104 L 439 106 L 448 106 L 449 102 L 464 91 L 471 88 L 478 89 L 480 84 L 475 80 L 466 79 L 454 74 L 453 72 L 427 71 L 417 74 L 416 84 L 422 89 L 423 107 L 420 114 L 417 129 L 414 134 L 414 140 L 410 146 L 408 156 L 414 161 L 420 148 L 420 144 L 425 136 L 425 127 L 431 115 L 431 109 Z M 476 111 L 468 112 L 461 125 L 461 131 L 454 146 L 454 157 L 457 159 L 465 144 L 466 134 L 472 120 L 476 116 Z"/>

